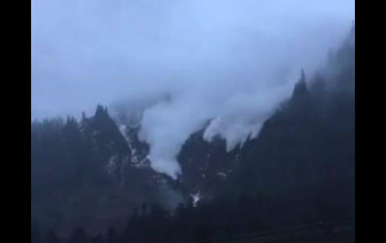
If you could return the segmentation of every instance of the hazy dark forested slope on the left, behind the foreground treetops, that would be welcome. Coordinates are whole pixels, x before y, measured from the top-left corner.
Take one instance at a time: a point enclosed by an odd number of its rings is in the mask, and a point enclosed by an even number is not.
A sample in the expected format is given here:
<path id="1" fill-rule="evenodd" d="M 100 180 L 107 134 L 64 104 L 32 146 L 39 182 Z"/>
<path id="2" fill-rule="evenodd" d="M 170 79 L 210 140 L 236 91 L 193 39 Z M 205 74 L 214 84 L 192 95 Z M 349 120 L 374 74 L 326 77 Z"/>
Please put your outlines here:
<path id="1" fill-rule="evenodd" d="M 80 122 L 32 122 L 32 223 L 63 233 L 77 224 L 101 230 L 124 223 L 138 203 L 158 201 L 155 173 L 131 154 L 102 106 Z"/>

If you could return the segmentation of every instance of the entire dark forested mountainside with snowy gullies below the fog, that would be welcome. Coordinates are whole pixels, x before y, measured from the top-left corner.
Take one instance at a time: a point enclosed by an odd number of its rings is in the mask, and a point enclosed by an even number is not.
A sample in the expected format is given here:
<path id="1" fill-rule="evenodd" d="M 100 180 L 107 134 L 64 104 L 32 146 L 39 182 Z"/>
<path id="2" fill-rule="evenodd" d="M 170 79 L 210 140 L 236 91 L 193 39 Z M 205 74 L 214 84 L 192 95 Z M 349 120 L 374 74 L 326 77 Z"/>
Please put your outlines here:
<path id="1" fill-rule="evenodd" d="M 227 152 L 205 127 L 192 134 L 176 181 L 149 166 L 138 123 L 103 106 L 80 121 L 32 122 L 32 241 L 227 241 L 294 225 L 333 237 L 354 224 L 354 92 L 353 27 L 257 138 Z"/>

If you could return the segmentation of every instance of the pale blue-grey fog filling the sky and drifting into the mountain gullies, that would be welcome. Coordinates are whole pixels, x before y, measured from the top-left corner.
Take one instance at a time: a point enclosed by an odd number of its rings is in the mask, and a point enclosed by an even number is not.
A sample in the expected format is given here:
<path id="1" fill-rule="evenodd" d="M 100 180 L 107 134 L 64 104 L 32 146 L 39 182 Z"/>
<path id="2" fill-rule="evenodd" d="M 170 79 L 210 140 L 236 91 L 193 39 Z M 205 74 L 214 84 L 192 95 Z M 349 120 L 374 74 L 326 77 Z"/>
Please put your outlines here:
<path id="1" fill-rule="evenodd" d="M 353 0 L 32 0 L 31 118 L 170 94 L 147 107 L 140 138 L 175 178 L 192 132 L 211 119 L 204 138 L 228 150 L 256 136 L 353 19 Z"/>

